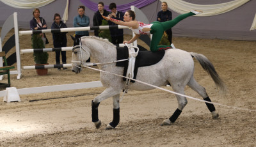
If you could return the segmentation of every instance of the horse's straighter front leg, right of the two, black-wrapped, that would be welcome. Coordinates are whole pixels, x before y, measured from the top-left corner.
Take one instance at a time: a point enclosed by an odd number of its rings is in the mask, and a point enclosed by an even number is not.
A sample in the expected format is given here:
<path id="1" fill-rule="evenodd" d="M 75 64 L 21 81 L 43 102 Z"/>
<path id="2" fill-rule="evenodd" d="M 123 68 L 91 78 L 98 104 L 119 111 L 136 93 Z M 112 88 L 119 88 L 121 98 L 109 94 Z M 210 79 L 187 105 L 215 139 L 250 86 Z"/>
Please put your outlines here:
<path id="1" fill-rule="evenodd" d="M 120 94 L 113 96 L 113 120 L 106 127 L 106 130 L 115 128 L 120 121 L 120 105 L 119 105 Z"/>

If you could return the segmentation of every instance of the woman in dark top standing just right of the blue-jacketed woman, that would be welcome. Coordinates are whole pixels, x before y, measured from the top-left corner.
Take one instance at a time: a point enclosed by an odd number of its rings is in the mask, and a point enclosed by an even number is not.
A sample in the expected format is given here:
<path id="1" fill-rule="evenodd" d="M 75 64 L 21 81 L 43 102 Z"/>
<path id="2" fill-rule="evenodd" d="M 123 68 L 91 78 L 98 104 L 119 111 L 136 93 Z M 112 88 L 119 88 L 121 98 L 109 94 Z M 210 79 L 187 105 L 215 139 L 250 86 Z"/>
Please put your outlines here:
<path id="1" fill-rule="evenodd" d="M 109 12 L 107 10 L 104 10 L 104 3 L 100 1 L 98 3 L 98 11 L 95 12 L 93 15 L 93 26 L 100 26 L 102 24 L 102 15 L 108 17 Z M 99 36 L 99 30 L 95 29 L 94 35 Z"/>

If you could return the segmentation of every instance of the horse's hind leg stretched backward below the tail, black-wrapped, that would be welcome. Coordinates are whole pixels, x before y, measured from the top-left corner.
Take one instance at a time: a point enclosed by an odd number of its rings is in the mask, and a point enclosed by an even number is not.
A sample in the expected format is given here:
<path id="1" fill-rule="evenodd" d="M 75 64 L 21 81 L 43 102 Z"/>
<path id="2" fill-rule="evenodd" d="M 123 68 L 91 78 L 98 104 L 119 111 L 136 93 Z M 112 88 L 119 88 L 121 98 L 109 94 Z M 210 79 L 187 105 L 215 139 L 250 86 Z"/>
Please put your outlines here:
<path id="1" fill-rule="evenodd" d="M 198 82 L 196 82 L 193 77 L 191 77 L 190 81 L 188 82 L 188 86 L 194 91 L 196 91 L 201 97 L 203 97 L 205 101 L 211 102 L 211 99 L 208 97 L 205 88 L 200 86 L 200 84 L 198 84 Z M 207 102 L 205 102 L 205 104 L 207 105 L 207 108 L 211 112 L 212 118 L 217 119 L 219 117 L 219 114 L 216 112 L 214 105 Z"/>

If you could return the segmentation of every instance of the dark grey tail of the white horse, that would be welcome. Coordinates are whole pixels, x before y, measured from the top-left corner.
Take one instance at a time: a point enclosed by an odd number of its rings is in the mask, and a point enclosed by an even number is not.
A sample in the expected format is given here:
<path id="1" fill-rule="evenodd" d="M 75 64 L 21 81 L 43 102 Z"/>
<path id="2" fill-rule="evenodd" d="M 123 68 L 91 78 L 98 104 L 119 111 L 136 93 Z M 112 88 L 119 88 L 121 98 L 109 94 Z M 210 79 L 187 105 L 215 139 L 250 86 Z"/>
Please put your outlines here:
<path id="1" fill-rule="evenodd" d="M 227 87 L 225 83 L 221 80 L 220 76 L 217 74 L 214 66 L 212 65 L 211 61 L 207 59 L 204 55 L 202 54 L 197 54 L 195 52 L 190 52 L 191 56 L 194 57 L 204 68 L 204 70 L 211 75 L 212 80 L 215 82 L 216 86 L 221 89 L 224 93 L 227 91 Z"/>

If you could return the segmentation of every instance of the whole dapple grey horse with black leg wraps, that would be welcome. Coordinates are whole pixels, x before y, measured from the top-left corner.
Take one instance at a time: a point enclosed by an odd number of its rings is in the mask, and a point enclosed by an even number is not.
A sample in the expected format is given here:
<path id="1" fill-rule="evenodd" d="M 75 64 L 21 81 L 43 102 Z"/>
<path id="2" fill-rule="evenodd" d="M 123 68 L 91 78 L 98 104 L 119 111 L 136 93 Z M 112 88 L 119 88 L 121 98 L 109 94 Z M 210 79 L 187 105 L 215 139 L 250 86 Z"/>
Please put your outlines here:
<path id="1" fill-rule="evenodd" d="M 74 46 L 72 56 L 72 71 L 79 73 L 81 66 L 89 58 L 93 58 L 97 63 L 108 63 L 109 61 L 116 60 L 116 46 L 108 42 L 106 39 L 98 38 L 95 36 L 84 36 L 81 38 L 81 45 Z M 212 63 L 202 54 L 195 52 L 186 52 L 180 49 L 165 50 L 163 59 L 151 66 L 144 66 L 138 69 L 136 80 L 147 82 L 154 86 L 166 86 L 170 83 L 173 91 L 184 95 L 184 88 L 188 85 L 191 89 L 196 91 L 205 101 L 211 102 L 205 88 L 200 86 L 195 81 L 194 74 L 194 61 L 193 57 L 200 63 L 202 68 L 215 82 L 216 86 L 221 91 L 225 91 L 226 87 L 224 82 L 220 79 Z M 111 72 L 113 74 L 122 75 L 124 72 L 123 67 L 116 66 L 115 63 L 98 65 L 100 70 Z M 108 124 L 106 129 L 115 128 L 120 121 L 120 92 L 125 88 L 125 81 L 122 77 L 113 74 L 100 72 L 100 81 L 106 88 L 99 96 L 92 101 L 92 121 L 95 127 L 99 128 L 101 121 L 98 117 L 98 107 L 102 100 L 113 97 L 113 121 Z M 133 90 L 150 90 L 154 89 L 152 86 L 141 84 L 140 82 L 131 82 L 128 89 Z M 161 125 L 171 125 L 177 120 L 182 109 L 188 103 L 186 97 L 176 95 L 179 107 L 172 114 L 172 116 L 161 123 Z M 218 113 L 211 103 L 207 103 L 209 111 L 211 111 L 212 118 L 218 118 Z"/>

